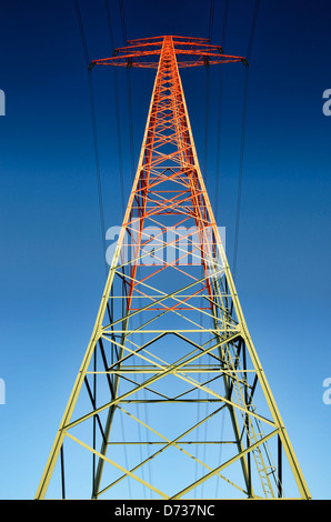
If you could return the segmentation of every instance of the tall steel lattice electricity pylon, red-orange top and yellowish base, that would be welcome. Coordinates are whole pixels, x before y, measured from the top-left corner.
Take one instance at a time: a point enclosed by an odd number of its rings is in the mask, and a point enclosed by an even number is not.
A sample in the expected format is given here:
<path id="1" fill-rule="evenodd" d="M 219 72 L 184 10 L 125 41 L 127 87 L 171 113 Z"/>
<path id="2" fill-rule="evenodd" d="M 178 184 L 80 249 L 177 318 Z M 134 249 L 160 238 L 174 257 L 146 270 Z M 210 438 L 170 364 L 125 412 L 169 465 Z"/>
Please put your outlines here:
<path id="1" fill-rule="evenodd" d="M 62 498 L 275 499 L 289 482 L 289 496 L 310 499 L 244 321 L 179 74 L 240 61 L 209 40 L 165 36 L 91 63 L 157 77 L 94 329 L 37 499 L 57 474 Z"/>

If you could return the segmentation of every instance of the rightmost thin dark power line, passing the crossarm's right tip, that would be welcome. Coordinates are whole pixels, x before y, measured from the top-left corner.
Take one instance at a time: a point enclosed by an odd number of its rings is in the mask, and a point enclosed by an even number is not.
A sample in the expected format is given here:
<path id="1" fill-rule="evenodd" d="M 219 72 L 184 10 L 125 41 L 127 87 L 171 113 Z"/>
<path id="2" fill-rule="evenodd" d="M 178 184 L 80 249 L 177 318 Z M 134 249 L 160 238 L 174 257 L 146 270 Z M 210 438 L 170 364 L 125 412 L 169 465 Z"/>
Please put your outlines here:
<path id="1" fill-rule="evenodd" d="M 251 34 L 247 52 L 247 61 L 249 62 L 253 46 L 254 32 L 257 27 L 259 11 L 259 0 L 255 0 L 253 19 L 251 24 Z M 244 140 L 245 140 L 245 119 L 247 119 L 247 100 L 248 100 L 248 83 L 249 83 L 249 67 L 245 68 L 244 87 L 243 87 L 243 106 L 242 106 L 242 123 L 241 123 L 241 145 L 240 145 L 240 161 L 239 161 L 239 181 L 238 181 L 238 197 L 237 197 L 237 215 L 235 215 L 235 230 L 234 230 L 234 251 L 233 251 L 233 265 L 232 275 L 235 279 L 237 258 L 238 258 L 238 242 L 239 242 L 239 224 L 240 224 L 240 208 L 241 208 L 241 191 L 242 191 L 242 167 L 244 154 Z"/>

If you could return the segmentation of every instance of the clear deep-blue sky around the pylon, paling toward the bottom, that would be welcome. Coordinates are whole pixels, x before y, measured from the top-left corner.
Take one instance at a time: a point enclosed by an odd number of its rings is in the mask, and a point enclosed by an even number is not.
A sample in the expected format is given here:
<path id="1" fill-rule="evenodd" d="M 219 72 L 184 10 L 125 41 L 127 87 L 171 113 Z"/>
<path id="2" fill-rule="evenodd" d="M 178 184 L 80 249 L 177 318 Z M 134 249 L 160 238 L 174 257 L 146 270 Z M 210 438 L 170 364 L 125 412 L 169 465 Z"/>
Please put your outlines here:
<path id="1" fill-rule="evenodd" d="M 123 44 L 111 1 L 116 46 Z M 102 0 L 81 0 L 91 59 L 112 52 Z M 2 2 L 0 89 L 0 496 L 31 499 L 93 327 L 104 283 L 89 89 L 71 1 Z M 212 43 L 223 44 L 224 1 Z M 244 56 L 253 2 L 230 0 L 224 51 Z M 208 37 L 209 2 L 124 0 L 128 38 Z M 260 1 L 250 61 L 237 287 L 255 348 L 312 496 L 331 499 L 331 7 Z M 93 70 L 106 225 L 121 224 L 112 71 Z M 127 76 L 119 70 L 126 194 Z M 210 71 L 207 188 L 215 201 L 219 69 Z M 131 72 L 136 158 L 154 71 Z M 219 224 L 233 257 L 244 68 L 223 72 Z M 204 161 L 205 71 L 182 71 Z M 325 331 L 324 331 L 325 330 Z"/>

